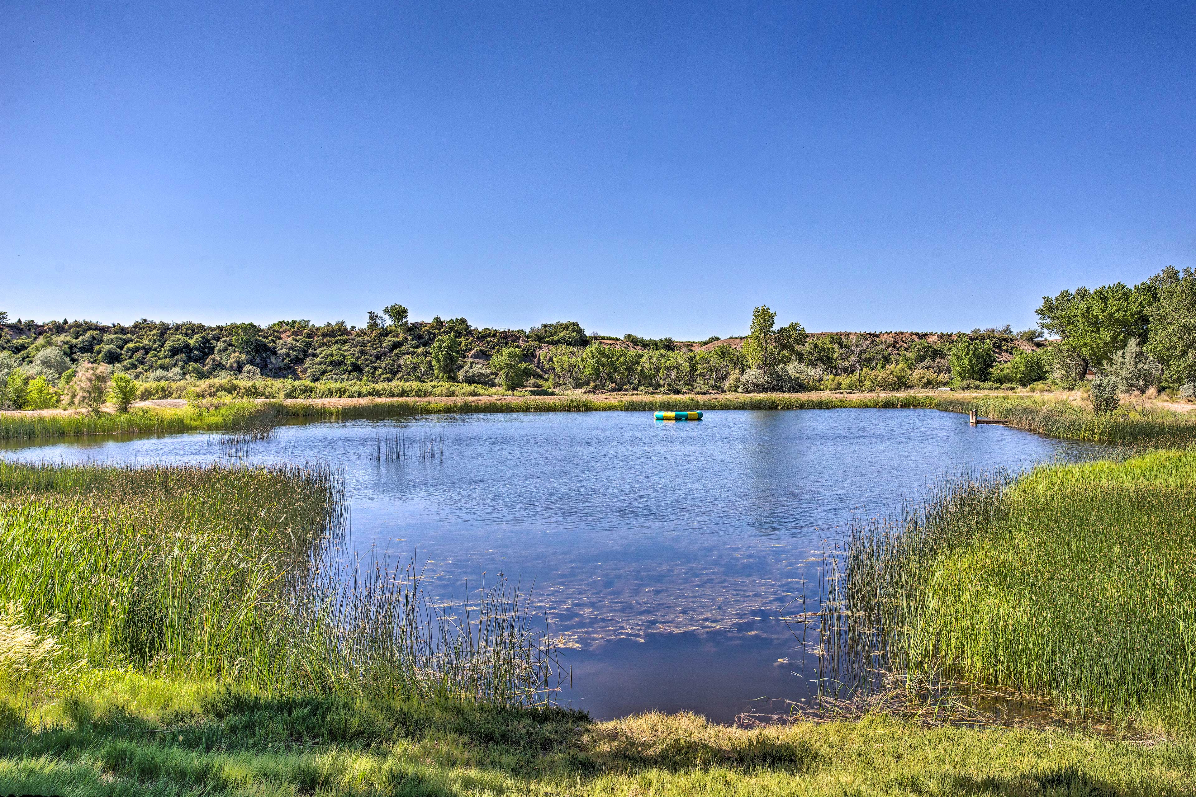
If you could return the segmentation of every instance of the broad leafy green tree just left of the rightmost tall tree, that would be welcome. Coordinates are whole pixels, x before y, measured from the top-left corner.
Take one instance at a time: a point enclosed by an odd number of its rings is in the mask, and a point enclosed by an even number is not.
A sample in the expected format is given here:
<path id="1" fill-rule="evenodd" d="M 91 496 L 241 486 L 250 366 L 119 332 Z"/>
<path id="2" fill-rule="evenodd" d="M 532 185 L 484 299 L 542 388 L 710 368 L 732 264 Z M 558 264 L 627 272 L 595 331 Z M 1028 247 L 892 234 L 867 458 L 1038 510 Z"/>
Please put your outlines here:
<path id="1" fill-rule="evenodd" d="M 1133 289 L 1115 282 L 1094 290 L 1063 290 L 1054 299 L 1043 296 L 1036 312 L 1042 327 L 1058 335 L 1064 349 L 1082 358 L 1086 367 L 1099 367 L 1130 341 L 1147 339 L 1147 311 L 1155 296 L 1149 282 Z"/>

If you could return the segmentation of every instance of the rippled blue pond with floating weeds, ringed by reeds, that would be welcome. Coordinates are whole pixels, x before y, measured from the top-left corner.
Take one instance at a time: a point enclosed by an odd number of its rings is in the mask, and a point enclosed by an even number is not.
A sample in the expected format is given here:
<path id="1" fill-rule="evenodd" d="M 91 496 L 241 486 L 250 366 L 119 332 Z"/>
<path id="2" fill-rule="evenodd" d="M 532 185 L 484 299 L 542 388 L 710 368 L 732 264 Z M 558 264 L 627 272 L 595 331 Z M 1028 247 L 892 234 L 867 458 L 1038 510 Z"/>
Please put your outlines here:
<path id="1" fill-rule="evenodd" d="M 401 458 L 388 459 L 402 449 Z M 282 427 L 249 461 L 344 470 L 350 544 L 416 556 L 460 596 L 486 574 L 532 589 L 568 644 L 561 701 L 609 718 L 731 722 L 813 691 L 814 656 L 779 617 L 817 594 L 823 540 L 966 468 L 1099 448 L 935 410 L 468 413 Z M 7 459 L 205 462 L 206 434 L 0 448 Z M 789 606 L 793 612 L 793 606 Z"/>

